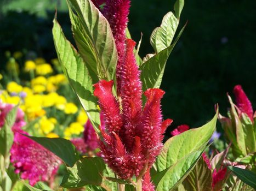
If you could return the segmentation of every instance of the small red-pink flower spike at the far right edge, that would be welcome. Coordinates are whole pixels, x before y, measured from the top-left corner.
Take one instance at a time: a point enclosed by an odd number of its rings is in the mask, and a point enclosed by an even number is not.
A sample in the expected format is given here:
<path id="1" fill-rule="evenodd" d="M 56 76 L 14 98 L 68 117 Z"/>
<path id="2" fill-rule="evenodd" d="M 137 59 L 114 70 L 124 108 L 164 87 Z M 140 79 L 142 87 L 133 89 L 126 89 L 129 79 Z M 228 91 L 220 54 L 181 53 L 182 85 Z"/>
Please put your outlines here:
<path id="1" fill-rule="evenodd" d="M 241 112 L 248 115 L 248 117 L 253 122 L 253 108 L 250 100 L 247 98 L 246 93 L 244 93 L 241 85 L 236 85 L 234 87 L 234 94 L 236 97 L 236 105 L 241 110 Z"/>

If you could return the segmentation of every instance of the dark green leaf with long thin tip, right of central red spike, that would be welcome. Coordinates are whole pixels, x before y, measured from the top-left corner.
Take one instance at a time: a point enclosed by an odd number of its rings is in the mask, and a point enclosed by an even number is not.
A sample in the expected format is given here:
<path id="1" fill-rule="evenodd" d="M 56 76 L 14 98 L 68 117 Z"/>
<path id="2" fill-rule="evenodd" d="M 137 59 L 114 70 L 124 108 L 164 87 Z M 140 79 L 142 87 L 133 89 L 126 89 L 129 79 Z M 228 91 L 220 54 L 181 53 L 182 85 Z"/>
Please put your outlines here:
<path id="1" fill-rule="evenodd" d="M 183 33 L 185 26 L 181 29 L 178 37 L 175 39 L 172 45 L 157 53 L 155 56 L 150 57 L 140 66 L 140 78 L 143 83 L 143 91 L 146 91 L 148 88 L 160 87 L 167 59 L 170 55 L 170 52 L 172 52 L 173 47 Z"/>

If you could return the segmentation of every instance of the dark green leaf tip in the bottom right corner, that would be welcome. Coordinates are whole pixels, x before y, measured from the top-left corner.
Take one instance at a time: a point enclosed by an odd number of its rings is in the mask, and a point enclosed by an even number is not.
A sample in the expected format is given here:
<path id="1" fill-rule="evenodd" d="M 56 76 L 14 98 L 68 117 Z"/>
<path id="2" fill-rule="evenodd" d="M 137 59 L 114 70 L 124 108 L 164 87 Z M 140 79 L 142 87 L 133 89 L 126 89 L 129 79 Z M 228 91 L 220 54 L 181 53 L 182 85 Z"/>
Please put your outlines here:
<path id="1" fill-rule="evenodd" d="M 244 183 L 248 184 L 252 188 L 256 189 L 256 174 L 249 170 L 244 170 L 237 168 L 235 166 L 227 166 L 229 170 L 234 172 L 234 174 Z"/>

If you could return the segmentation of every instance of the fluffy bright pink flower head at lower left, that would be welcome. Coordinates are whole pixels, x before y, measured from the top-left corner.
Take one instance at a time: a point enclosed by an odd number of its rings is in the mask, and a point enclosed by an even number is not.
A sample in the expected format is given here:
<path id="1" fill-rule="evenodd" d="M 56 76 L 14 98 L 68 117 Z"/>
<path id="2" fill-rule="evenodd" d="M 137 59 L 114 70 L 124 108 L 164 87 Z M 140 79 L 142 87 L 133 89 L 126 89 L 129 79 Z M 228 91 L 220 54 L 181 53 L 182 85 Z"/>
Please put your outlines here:
<path id="1" fill-rule="evenodd" d="M 22 130 L 20 133 L 28 135 Z M 20 133 L 14 134 L 10 150 L 10 162 L 14 164 L 15 172 L 21 173 L 21 178 L 29 180 L 32 186 L 38 181 L 49 181 L 56 174 L 61 164 L 60 159 Z"/>

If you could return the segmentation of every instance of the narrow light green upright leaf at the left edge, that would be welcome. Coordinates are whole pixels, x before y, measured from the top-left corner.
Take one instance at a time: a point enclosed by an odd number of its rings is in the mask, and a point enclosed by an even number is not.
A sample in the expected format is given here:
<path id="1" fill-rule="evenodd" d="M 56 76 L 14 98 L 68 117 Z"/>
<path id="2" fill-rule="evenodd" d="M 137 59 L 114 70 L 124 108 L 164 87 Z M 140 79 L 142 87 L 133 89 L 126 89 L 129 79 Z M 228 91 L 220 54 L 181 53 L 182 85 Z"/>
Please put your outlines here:
<path id="1" fill-rule="evenodd" d="M 18 106 L 15 106 L 10 110 L 5 117 L 5 122 L 3 127 L 0 129 L 0 154 L 6 158 L 9 154 L 10 148 L 13 145 L 14 135 L 12 132 L 13 124 L 16 120 L 16 115 L 18 111 Z"/>

